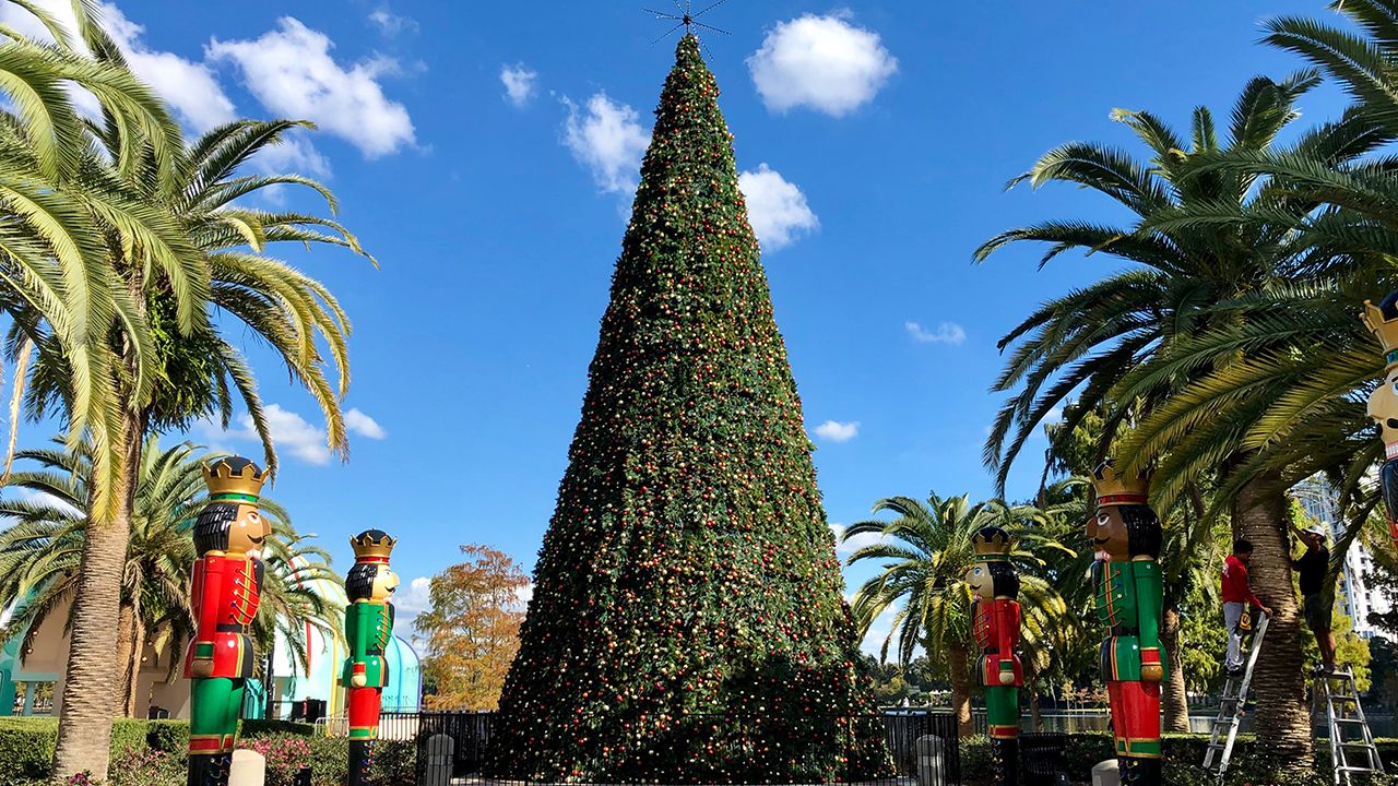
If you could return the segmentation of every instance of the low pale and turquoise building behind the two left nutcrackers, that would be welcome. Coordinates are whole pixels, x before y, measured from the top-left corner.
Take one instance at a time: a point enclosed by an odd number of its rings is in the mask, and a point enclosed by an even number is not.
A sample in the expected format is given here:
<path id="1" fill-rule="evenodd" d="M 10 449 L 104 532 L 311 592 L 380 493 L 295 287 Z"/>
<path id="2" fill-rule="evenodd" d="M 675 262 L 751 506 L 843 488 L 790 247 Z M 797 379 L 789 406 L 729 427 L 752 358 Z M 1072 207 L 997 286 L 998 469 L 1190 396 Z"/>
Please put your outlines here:
<path id="1" fill-rule="evenodd" d="M 344 590 L 330 582 L 320 582 L 323 597 L 345 603 Z M 69 638 L 63 622 L 67 607 L 56 608 L 32 638 L 29 650 L 21 653 L 25 631 L 6 631 L 8 613 L 0 614 L 0 716 L 59 715 L 63 698 L 63 670 L 69 653 Z M 10 635 L 13 634 L 13 635 Z M 344 688 L 340 670 L 347 655 L 341 641 L 327 641 L 320 631 L 306 628 L 308 663 L 302 670 L 291 667 L 289 648 L 284 636 L 277 638 L 273 657 L 273 715 L 289 717 L 296 703 L 305 699 L 324 702 L 330 716 L 344 715 Z M 266 657 L 264 653 L 259 653 Z M 136 716 L 169 713 L 169 717 L 189 717 L 189 680 L 180 676 L 183 650 L 157 652 L 147 645 L 136 688 Z M 389 687 L 383 691 L 384 712 L 417 712 L 422 696 L 422 676 L 417 650 L 407 641 L 394 636 L 384 653 L 390 671 Z M 113 664 L 115 670 L 115 664 Z M 252 680 L 243 702 L 243 717 L 266 717 L 267 694 L 263 684 Z"/>

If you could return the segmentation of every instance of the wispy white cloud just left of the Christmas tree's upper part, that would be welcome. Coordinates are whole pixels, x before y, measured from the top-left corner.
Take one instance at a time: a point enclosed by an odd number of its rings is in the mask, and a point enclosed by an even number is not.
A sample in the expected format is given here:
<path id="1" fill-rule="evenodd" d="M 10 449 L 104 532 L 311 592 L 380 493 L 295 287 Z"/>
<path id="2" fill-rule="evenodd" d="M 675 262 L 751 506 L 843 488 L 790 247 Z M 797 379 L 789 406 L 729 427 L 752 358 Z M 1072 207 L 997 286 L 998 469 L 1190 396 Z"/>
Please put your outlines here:
<path id="1" fill-rule="evenodd" d="M 650 134 L 637 122 L 636 110 L 607 98 L 605 92 L 589 98 L 586 108 L 566 98 L 563 103 L 568 106 L 563 144 L 573 158 L 591 171 L 603 192 L 635 190 L 640 157 L 650 144 Z"/>

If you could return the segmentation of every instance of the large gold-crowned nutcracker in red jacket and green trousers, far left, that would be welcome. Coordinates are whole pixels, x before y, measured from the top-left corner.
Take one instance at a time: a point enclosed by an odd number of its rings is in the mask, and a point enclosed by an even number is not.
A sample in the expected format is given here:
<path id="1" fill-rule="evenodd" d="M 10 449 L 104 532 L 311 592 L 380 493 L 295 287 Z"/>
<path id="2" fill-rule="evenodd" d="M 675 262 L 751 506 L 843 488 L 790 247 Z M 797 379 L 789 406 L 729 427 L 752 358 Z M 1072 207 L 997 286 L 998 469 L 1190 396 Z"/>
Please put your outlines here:
<path id="1" fill-rule="evenodd" d="M 243 685 L 253 676 L 247 625 L 261 592 L 261 548 L 271 527 L 257 512 L 267 473 L 229 456 L 204 466 L 208 503 L 194 522 L 190 597 L 194 641 L 185 655 L 190 680 L 189 786 L 226 786 Z"/>

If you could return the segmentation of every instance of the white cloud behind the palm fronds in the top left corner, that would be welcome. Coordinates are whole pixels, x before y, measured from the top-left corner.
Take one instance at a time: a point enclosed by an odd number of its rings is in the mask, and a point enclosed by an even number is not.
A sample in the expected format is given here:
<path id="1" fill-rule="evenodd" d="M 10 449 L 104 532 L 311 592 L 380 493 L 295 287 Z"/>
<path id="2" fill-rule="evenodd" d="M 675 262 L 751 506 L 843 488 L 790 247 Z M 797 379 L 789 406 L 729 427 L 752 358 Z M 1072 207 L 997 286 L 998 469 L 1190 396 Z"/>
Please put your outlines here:
<path id="1" fill-rule="evenodd" d="M 70 32 L 75 29 L 71 1 L 38 0 L 38 6 Z M 96 10 L 108 34 L 126 55 L 131 70 L 165 98 L 190 129 L 207 131 L 236 117 L 233 102 L 218 84 L 218 76 L 212 69 L 172 52 L 151 49 L 143 39 L 145 28 L 129 20 L 115 4 L 98 3 Z M 35 15 L 13 3 L 0 4 L 0 22 L 25 35 L 52 41 Z M 74 91 L 74 101 L 89 115 L 101 113 L 96 99 L 85 91 Z"/>

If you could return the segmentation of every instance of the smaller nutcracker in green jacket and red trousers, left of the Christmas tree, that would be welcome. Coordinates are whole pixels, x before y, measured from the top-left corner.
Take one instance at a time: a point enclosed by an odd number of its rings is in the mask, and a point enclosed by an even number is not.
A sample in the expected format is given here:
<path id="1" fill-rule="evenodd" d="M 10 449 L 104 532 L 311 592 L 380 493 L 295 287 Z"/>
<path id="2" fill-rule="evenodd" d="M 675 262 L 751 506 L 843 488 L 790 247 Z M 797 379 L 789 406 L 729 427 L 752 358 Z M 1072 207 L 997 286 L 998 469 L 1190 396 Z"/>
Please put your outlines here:
<path id="1" fill-rule="evenodd" d="M 369 780 L 369 752 L 379 737 L 379 699 L 389 685 L 383 652 L 393 635 L 393 590 L 398 575 L 389 569 L 389 554 L 397 541 L 382 530 L 366 530 L 350 538 L 354 568 L 345 579 L 345 659 L 340 684 L 345 687 L 350 716 L 350 786 Z"/>

